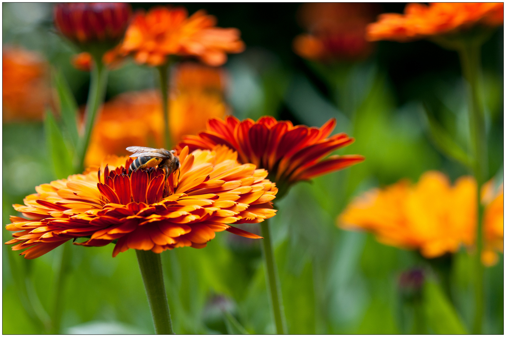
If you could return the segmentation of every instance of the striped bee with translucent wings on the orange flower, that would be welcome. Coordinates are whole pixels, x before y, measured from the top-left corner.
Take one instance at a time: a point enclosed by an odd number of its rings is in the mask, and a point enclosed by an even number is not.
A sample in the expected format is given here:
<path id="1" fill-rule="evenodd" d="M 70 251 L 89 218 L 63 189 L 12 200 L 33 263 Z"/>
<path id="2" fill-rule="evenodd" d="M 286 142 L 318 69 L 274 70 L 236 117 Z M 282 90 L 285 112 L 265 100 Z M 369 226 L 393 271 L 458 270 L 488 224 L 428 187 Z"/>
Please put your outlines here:
<path id="1" fill-rule="evenodd" d="M 165 149 L 128 147 L 126 151 L 134 153 L 130 157 L 137 157 L 137 159 L 130 164 L 128 169 L 129 174 L 138 169 L 155 167 L 158 165 L 159 168 L 165 171 L 165 176 L 168 177 L 169 174 L 179 170 L 181 167 L 178 156 L 174 155 L 176 153 L 174 150 L 168 151 Z"/>

